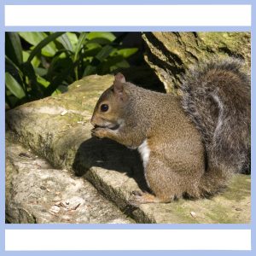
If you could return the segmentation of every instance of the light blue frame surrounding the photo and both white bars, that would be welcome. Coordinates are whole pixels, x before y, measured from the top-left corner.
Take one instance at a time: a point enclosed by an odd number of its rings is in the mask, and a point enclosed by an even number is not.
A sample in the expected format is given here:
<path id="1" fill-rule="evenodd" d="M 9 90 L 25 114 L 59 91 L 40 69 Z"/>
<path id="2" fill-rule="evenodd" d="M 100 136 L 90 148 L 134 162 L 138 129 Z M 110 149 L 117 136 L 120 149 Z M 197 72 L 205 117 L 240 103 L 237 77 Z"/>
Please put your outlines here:
<path id="1" fill-rule="evenodd" d="M 120 3 L 121 2 L 121 3 Z M 240 26 L 240 27 L 233 27 L 233 26 L 12 26 L 12 27 L 5 27 L 4 26 L 4 4 L 252 4 L 253 5 L 253 15 L 252 15 L 252 28 Z M 47 19 L 47 17 L 46 17 Z M 2 90 L 0 95 L 0 147 L 1 147 L 1 154 L 0 154 L 0 180 L 1 180 L 1 200 L 0 200 L 0 209 L 1 209 L 1 239 L 0 239 L 0 253 L 1 255 L 52 255 L 52 254 L 59 254 L 59 255 L 71 255 L 74 252 L 4 252 L 4 230 L 5 229 L 251 229 L 252 228 L 252 241 L 256 241 L 255 239 L 255 189 L 252 189 L 252 224 L 4 224 L 5 223 L 5 212 L 4 212 L 4 161 L 5 161 L 5 145 L 4 145 L 4 31 L 128 31 L 128 32 L 135 32 L 135 31 L 252 31 L 252 44 L 255 44 L 255 25 L 256 25 L 256 12 L 255 12 L 255 4 L 253 1 L 249 0 L 175 0 L 175 1 L 167 1 L 167 0 L 130 0 L 130 1 L 122 1 L 122 0 L 94 0 L 94 1 L 82 1 L 82 0 L 3 0 L 1 3 L 0 9 L 0 45 L 1 45 L 1 68 L 0 68 L 0 79 L 2 84 Z M 254 33 L 253 33 L 254 32 Z M 252 50 L 252 70 L 255 69 L 254 65 L 255 61 L 255 52 Z M 255 74 L 252 73 L 252 84 L 255 81 Z M 252 86 L 252 102 L 255 102 L 255 91 Z M 255 136 L 253 134 L 255 128 L 255 104 L 252 107 L 252 170 L 253 166 L 255 166 L 255 149 L 253 145 L 255 145 Z M 254 188 L 254 174 L 252 171 L 252 188 Z M 228 237 L 227 237 L 228 239 Z M 86 242 L 86 241 L 84 241 Z M 132 237 L 130 241 L 132 243 Z M 172 242 L 172 241 L 170 241 Z M 214 242 L 214 241 L 212 241 Z M 99 244 L 100 247 L 100 244 Z M 253 245 L 252 245 L 253 247 Z M 185 244 L 184 244 L 185 248 Z M 86 252 L 75 252 L 76 254 L 85 254 L 88 255 L 131 255 L 139 253 L 140 255 L 169 255 L 171 253 L 175 253 L 177 255 L 245 255 L 245 254 L 252 254 L 253 252 L 234 252 L 234 251 L 160 251 L 160 252 L 148 252 L 148 251 L 140 251 L 140 252 L 119 252 L 119 251 L 108 251 L 108 252 L 101 252 L 101 251 L 86 251 Z M 255 253 L 255 252 L 254 252 Z"/>

